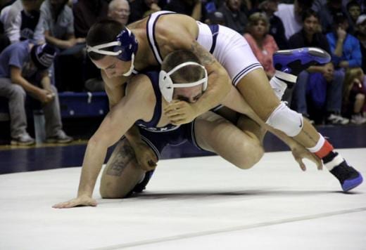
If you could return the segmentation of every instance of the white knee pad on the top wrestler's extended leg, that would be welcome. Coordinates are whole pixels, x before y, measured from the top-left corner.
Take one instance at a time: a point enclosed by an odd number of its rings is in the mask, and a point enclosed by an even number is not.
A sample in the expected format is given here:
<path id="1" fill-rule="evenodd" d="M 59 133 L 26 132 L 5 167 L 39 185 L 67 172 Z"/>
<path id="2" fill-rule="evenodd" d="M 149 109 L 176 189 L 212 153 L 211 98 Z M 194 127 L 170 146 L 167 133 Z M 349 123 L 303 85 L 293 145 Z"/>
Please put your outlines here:
<path id="1" fill-rule="evenodd" d="M 294 137 L 303 129 L 303 116 L 281 103 L 265 123 L 286 133 L 287 136 Z"/>

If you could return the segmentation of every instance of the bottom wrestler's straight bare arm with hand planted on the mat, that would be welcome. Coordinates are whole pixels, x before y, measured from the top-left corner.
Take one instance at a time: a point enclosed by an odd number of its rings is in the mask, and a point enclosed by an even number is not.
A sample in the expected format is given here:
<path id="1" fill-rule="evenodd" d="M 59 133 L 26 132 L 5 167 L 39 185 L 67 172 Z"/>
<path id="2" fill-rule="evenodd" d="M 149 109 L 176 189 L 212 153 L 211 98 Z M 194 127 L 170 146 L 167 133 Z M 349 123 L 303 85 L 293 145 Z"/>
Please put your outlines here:
<path id="1" fill-rule="evenodd" d="M 151 119 L 153 114 L 156 100 L 149 78 L 141 75 L 135 80 L 139 82 L 136 82 L 131 88 L 129 86 L 129 94 L 108 112 L 99 129 L 87 144 L 77 198 L 56 204 L 53 208 L 64 209 L 80 205 L 96 206 L 92 194 L 108 147 L 115 144 L 135 121 Z"/>

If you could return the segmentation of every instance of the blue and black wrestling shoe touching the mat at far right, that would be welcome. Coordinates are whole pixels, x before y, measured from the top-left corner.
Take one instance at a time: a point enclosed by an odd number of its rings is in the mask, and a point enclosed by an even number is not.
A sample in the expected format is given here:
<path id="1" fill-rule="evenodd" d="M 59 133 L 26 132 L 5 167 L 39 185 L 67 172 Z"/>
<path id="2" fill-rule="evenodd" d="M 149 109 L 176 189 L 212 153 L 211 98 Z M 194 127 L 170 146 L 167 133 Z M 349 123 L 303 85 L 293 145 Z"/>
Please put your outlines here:
<path id="1" fill-rule="evenodd" d="M 348 166 L 346 161 L 341 162 L 330 171 L 341 183 L 344 192 L 347 192 L 362 183 L 362 175 L 352 166 Z"/>

